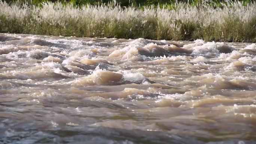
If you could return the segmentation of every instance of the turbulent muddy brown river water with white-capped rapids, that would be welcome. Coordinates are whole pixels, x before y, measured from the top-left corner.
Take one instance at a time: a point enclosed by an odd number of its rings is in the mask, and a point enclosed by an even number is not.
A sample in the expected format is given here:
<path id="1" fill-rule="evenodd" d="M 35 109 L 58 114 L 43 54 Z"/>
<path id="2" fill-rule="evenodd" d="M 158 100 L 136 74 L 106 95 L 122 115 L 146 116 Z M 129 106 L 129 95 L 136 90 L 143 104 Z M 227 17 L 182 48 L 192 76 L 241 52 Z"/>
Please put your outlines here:
<path id="1" fill-rule="evenodd" d="M 255 43 L 0 41 L 0 144 L 256 143 Z"/>

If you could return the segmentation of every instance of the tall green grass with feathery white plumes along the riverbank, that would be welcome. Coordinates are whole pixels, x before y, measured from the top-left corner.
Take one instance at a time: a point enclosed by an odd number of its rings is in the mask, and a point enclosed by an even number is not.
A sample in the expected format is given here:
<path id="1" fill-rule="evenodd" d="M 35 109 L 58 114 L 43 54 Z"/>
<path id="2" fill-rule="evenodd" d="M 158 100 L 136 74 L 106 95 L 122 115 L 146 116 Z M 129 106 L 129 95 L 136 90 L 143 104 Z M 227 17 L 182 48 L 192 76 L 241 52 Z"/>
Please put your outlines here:
<path id="1" fill-rule="evenodd" d="M 166 6 L 163 6 L 166 7 Z M 76 37 L 256 42 L 256 3 L 240 1 L 121 7 L 115 3 L 74 7 L 61 3 L 0 1 L 0 32 Z"/>

